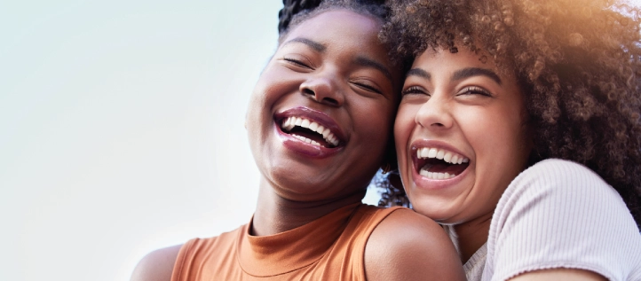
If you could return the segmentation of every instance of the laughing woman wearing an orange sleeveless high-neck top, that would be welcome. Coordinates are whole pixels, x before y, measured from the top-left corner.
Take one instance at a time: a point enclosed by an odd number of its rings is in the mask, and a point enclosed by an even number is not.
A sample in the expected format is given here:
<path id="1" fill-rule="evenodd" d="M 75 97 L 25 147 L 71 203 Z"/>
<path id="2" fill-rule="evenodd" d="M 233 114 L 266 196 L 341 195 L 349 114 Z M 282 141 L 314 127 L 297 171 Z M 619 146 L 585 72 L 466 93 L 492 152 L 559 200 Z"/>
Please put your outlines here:
<path id="1" fill-rule="evenodd" d="M 261 174 L 253 218 L 148 254 L 131 280 L 463 280 L 437 223 L 361 203 L 388 161 L 400 99 L 401 67 L 377 37 L 389 11 L 348 1 L 285 4 L 278 48 L 246 117 Z"/>

